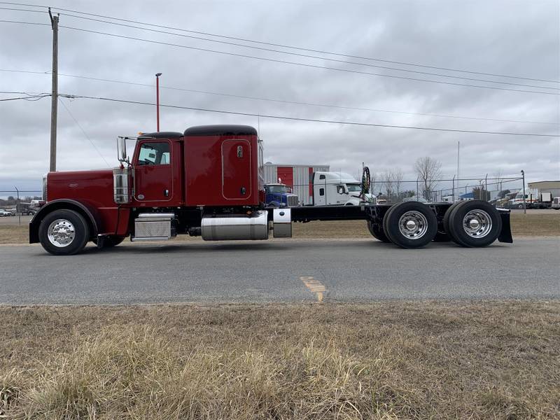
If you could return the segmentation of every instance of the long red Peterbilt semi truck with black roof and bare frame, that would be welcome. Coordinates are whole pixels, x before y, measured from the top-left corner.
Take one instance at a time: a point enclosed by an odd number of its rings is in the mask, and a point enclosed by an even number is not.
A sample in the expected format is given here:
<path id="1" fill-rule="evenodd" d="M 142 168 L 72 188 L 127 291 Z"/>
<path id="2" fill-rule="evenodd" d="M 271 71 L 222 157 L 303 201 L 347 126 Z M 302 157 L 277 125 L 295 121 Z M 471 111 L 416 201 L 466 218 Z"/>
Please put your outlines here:
<path id="1" fill-rule="evenodd" d="M 109 248 L 124 239 L 206 241 L 292 236 L 292 224 L 363 220 L 371 234 L 402 248 L 451 240 L 461 246 L 512 242 L 509 211 L 486 202 L 267 207 L 262 141 L 253 127 L 209 125 L 135 137 L 132 159 L 118 138 L 115 169 L 50 172 L 45 205 L 29 223 L 29 242 L 55 255 Z M 367 184 L 367 183 L 365 183 Z M 369 186 L 363 185 L 364 195 Z"/>

